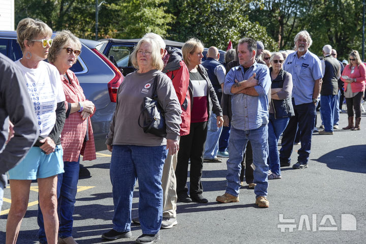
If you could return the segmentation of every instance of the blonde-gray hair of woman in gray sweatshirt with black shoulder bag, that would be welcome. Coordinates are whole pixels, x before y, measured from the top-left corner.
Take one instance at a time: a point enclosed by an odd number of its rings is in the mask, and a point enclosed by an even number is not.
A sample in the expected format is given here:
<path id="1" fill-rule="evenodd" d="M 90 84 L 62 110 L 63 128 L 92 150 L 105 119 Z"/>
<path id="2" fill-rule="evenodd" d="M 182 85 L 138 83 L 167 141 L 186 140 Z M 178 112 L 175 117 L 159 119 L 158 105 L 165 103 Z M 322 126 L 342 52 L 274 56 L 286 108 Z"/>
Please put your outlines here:
<path id="1" fill-rule="evenodd" d="M 137 64 L 137 51 L 140 49 L 142 43 L 147 42 L 151 45 L 151 66 L 153 66 L 155 69 L 157 70 L 163 70 L 164 68 L 164 63 L 163 60 L 161 58 L 161 54 L 160 54 L 160 46 L 159 44 L 151 38 L 141 38 L 141 40 L 137 43 L 135 49 L 133 50 L 133 52 L 131 53 L 131 63 L 132 65 L 138 69 L 138 64 Z"/>

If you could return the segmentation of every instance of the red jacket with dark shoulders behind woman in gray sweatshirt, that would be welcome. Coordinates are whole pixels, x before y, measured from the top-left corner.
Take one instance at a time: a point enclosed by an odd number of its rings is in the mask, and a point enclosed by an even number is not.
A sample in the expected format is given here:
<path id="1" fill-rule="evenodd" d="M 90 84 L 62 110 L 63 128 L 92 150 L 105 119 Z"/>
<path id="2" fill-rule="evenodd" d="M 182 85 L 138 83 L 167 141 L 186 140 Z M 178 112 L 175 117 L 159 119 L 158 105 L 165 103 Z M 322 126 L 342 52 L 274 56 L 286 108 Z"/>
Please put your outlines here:
<path id="1" fill-rule="evenodd" d="M 169 60 L 164 67 L 163 72 L 172 80 L 175 93 L 178 97 L 182 110 L 180 124 L 180 136 L 190 133 L 191 124 L 191 97 L 188 92 L 189 88 L 189 71 L 183 61 L 180 49 L 175 47 L 166 48 L 169 54 Z"/>

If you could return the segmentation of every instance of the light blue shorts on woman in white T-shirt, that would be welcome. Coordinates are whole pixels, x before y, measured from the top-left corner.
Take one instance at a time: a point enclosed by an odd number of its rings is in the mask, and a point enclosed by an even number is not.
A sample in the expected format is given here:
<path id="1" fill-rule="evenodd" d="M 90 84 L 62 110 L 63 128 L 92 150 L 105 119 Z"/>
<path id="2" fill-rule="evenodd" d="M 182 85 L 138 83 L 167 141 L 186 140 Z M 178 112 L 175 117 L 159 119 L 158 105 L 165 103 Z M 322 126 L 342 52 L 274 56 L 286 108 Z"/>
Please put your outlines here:
<path id="1" fill-rule="evenodd" d="M 64 151 L 56 145 L 53 153 L 46 155 L 41 148 L 33 146 L 17 166 L 9 170 L 9 179 L 37 179 L 64 173 Z"/>

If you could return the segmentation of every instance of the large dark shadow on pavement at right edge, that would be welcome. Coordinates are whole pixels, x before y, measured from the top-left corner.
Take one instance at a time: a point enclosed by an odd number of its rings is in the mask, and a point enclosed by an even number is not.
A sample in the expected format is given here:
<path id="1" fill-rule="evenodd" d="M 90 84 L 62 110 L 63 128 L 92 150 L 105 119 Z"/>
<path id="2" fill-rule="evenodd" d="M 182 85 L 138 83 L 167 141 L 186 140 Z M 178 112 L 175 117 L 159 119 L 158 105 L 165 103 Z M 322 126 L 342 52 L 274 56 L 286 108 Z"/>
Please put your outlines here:
<path id="1" fill-rule="evenodd" d="M 313 160 L 325 163 L 330 169 L 366 173 L 366 145 L 343 147 Z"/>

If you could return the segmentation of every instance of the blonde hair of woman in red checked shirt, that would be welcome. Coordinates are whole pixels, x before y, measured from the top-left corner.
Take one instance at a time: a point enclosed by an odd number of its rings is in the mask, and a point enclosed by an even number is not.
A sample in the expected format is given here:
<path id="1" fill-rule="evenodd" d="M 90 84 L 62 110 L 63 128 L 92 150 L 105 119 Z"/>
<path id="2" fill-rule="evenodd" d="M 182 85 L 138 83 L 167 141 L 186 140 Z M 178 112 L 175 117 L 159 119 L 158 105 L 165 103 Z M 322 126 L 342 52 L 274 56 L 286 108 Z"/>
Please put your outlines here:
<path id="1" fill-rule="evenodd" d="M 81 51 L 81 42 L 74 34 L 72 34 L 67 29 L 57 32 L 55 38 L 53 39 L 52 46 L 49 49 L 48 61 L 50 63 L 54 63 L 59 52 L 63 50 L 64 45 L 69 42 L 71 42 L 71 44 L 74 43 L 75 48 Z M 76 63 L 77 58 L 78 56 L 76 56 L 74 64 Z"/>

